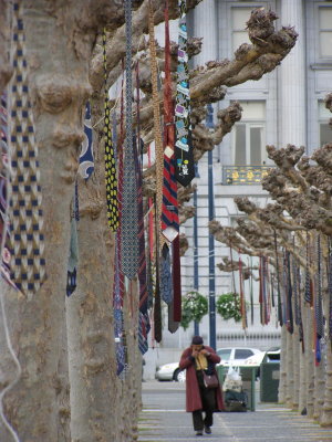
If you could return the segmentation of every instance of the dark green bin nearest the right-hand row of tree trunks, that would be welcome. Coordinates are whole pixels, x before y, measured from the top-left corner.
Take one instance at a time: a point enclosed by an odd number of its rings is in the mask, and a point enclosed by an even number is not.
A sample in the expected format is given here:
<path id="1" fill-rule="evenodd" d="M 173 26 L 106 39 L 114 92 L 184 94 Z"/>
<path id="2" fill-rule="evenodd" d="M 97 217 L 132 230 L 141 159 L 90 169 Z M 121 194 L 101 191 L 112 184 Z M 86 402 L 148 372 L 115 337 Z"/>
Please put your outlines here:
<path id="1" fill-rule="evenodd" d="M 280 378 L 279 362 L 262 362 L 260 366 L 260 401 L 278 402 Z"/>

